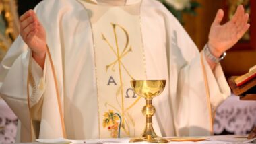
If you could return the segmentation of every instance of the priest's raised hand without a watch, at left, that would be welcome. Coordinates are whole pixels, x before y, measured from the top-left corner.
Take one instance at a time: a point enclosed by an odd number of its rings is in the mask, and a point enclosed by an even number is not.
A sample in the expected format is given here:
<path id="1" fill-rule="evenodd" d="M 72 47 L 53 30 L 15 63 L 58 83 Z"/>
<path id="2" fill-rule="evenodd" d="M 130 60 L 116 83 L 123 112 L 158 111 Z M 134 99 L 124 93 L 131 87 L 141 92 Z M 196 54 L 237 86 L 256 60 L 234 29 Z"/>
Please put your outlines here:
<path id="1" fill-rule="evenodd" d="M 20 17 L 20 35 L 32 50 L 32 57 L 44 69 L 47 49 L 46 32 L 36 17 L 36 13 L 31 9 Z"/>

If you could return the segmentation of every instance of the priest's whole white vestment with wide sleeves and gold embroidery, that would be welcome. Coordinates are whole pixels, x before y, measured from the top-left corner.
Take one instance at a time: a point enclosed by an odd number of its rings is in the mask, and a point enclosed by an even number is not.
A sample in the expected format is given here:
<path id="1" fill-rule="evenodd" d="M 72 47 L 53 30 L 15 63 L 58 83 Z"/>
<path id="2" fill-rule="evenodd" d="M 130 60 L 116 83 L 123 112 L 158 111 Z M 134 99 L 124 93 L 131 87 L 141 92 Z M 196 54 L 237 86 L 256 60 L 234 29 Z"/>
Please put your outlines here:
<path id="1" fill-rule="evenodd" d="M 1 97 L 24 139 L 139 137 L 145 103 L 132 79 L 166 79 L 153 99 L 158 135 L 212 133 L 216 107 L 230 95 L 221 66 L 210 69 L 161 3 L 44 0 L 35 11 L 49 48 L 44 69 L 20 36 L 0 65 Z"/>

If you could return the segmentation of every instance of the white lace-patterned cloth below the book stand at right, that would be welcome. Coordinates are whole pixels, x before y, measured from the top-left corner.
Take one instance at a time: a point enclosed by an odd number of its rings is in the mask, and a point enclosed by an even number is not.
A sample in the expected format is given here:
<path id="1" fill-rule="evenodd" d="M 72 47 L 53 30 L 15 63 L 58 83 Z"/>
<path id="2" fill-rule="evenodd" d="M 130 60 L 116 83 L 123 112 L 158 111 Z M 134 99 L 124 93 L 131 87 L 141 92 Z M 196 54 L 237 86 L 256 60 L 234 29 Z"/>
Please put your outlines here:
<path id="1" fill-rule="evenodd" d="M 220 135 L 224 130 L 234 135 L 247 134 L 253 127 L 256 127 L 256 101 L 239 100 L 232 94 L 218 106 L 214 134 Z"/>

